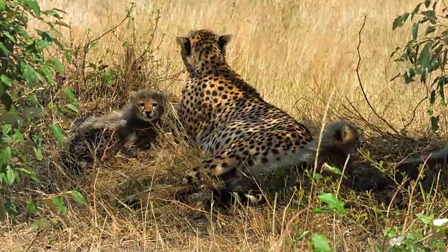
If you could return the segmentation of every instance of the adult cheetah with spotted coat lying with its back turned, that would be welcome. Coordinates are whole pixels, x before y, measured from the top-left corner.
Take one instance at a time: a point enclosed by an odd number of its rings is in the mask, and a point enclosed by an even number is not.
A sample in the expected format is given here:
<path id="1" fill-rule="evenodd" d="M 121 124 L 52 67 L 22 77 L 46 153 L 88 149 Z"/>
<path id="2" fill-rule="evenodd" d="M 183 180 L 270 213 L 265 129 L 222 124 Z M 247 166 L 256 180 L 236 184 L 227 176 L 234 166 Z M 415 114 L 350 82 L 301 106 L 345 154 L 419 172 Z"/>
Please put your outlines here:
<path id="1" fill-rule="evenodd" d="M 230 34 L 219 36 L 207 29 L 176 38 L 189 73 L 177 113 L 187 134 L 197 140 L 209 158 L 188 172 L 179 185 L 162 186 L 151 195 L 141 193 L 128 203 L 150 196 L 192 193 L 208 176 L 225 181 L 300 162 L 300 154 L 313 139 L 311 132 L 288 113 L 265 102 L 230 67 L 225 47 L 231 38 Z M 205 123 L 197 120 L 204 109 Z M 243 195 L 251 202 L 257 201 L 253 195 Z"/>

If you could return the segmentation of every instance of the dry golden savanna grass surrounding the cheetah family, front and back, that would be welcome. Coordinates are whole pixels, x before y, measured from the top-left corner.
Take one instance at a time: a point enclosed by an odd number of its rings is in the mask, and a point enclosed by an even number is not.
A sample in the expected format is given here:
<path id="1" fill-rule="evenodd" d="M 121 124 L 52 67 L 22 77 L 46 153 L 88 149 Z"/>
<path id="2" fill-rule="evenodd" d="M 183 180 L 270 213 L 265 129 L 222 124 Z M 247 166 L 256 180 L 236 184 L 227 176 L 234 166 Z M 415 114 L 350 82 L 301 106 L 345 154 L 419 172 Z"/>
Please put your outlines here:
<path id="1" fill-rule="evenodd" d="M 304 121 L 314 133 L 323 121 L 346 118 L 360 127 L 363 139 L 381 137 L 380 132 L 400 132 L 405 125 L 409 136 L 431 134 L 428 103 L 415 109 L 426 97 L 426 90 L 418 83 L 391 81 L 402 72 L 403 64 L 389 56 L 410 36 L 410 27 L 392 31 L 392 22 L 418 1 L 135 0 L 129 18 L 130 1 L 38 3 L 42 9 L 64 10 L 64 22 L 71 26 L 59 30 L 61 41 L 74 52 L 72 63 L 64 63 L 62 85 L 73 90 L 80 115 L 53 118 L 63 130 L 83 116 L 119 109 L 127 94 L 141 87 L 158 87 L 172 93 L 173 101 L 179 99 L 186 73 L 175 38 L 190 29 L 211 29 L 234 35 L 227 58 L 235 71 L 267 102 Z M 356 76 L 358 32 L 364 15 L 359 74 L 370 104 L 384 120 L 370 109 Z M 29 29 L 34 27 L 37 22 Z M 93 42 L 87 49 L 85 45 Z M 146 49 L 151 51 L 144 53 Z M 446 129 L 442 117 L 437 139 L 446 137 Z M 365 151 L 397 156 L 418 151 L 385 139 L 383 145 L 365 141 Z M 54 160 L 60 146 L 55 141 L 43 148 L 45 156 Z M 415 214 L 439 218 L 447 210 L 446 202 L 433 198 L 430 204 L 412 202 L 410 209 L 381 208 L 374 200 L 360 200 L 343 190 L 342 199 L 358 201 L 363 208 L 347 209 L 344 216 L 314 214 L 304 208 L 308 204 L 304 202 L 316 201 L 316 193 L 339 193 L 339 188 L 314 188 L 311 192 L 303 188 L 293 197 L 295 204 L 239 208 L 231 214 L 205 212 L 194 203 L 150 202 L 139 211 L 116 206 L 129 181 L 176 181 L 199 160 L 197 150 L 174 144 L 167 137 L 151 162 L 117 158 L 95 165 L 80 179 L 65 174 L 57 162 L 49 162 L 39 167 L 43 185 L 32 193 L 50 197 L 77 188 L 88 203 L 81 206 L 67 200 L 65 214 L 39 205 L 41 214 L 34 218 L 47 221 L 41 221 L 38 228 L 20 218 L 14 226 L 4 222 L 0 250 L 311 251 L 309 235 L 323 232 L 335 251 L 373 251 L 375 243 L 388 244 L 388 239 L 383 239 L 387 227 L 426 235 L 428 230 L 421 228 Z"/>

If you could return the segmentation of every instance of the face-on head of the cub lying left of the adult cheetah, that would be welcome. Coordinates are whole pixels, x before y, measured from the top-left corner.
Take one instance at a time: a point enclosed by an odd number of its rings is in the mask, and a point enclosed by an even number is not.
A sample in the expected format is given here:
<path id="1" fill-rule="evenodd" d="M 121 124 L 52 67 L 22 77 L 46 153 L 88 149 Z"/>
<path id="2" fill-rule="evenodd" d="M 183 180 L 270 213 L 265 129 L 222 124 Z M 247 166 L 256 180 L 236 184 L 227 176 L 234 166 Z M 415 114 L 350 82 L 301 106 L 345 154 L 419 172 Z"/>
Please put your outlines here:
<path id="1" fill-rule="evenodd" d="M 141 120 L 158 120 L 165 112 L 167 93 L 152 88 L 131 91 L 129 94 L 133 116 Z"/>

